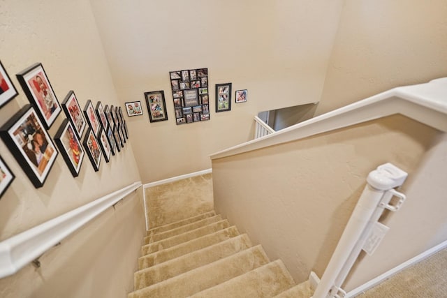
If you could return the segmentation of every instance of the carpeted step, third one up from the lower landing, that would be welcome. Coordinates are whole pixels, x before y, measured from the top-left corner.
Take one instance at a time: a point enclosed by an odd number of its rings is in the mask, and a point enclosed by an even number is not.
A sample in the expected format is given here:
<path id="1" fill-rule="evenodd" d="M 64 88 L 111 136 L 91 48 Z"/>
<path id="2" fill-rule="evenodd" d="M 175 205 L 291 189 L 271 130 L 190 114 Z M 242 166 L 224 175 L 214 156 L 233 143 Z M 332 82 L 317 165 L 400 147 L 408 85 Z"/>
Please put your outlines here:
<path id="1" fill-rule="evenodd" d="M 147 253 L 154 253 L 155 251 L 161 251 L 162 249 L 181 244 L 183 242 L 204 236 L 206 234 L 211 234 L 218 230 L 223 230 L 228 228 L 230 223 L 226 219 L 223 221 L 218 221 L 216 223 L 211 223 L 210 225 L 205 225 L 204 227 L 198 228 L 196 230 L 191 230 L 189 232 L 184 232 L 173 237 L 169 237 L 160 241 L 152 242 L 151 244 L 146 243 L 146 247 L 143 246 L 142 250 Z"/>

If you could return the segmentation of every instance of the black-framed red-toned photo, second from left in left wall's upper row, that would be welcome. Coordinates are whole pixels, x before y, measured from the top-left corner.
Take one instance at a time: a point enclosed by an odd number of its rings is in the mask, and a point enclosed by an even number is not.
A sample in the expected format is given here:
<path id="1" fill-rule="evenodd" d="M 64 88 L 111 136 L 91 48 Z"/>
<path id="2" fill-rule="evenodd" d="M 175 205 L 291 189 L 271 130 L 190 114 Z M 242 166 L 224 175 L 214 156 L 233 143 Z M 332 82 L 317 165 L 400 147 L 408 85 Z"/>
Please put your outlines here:
<path id="1" fill-rule="evenodd" d="M 42 64 L 34 64 L 16 76 L 29 102 L 39 112 L 38 117 L 49 129 L 61 112 L 61 107 Z"/>

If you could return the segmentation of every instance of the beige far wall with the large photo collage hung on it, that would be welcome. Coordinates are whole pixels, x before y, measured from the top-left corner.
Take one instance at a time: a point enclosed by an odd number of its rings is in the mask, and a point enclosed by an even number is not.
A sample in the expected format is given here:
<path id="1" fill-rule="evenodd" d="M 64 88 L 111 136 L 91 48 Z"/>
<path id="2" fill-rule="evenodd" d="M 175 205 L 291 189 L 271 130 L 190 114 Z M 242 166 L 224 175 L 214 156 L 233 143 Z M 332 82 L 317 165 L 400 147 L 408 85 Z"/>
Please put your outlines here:
<path id="1" fill-rule="evenodd" d="M 210 167 L 209 154 L 253 137 L 260 111 L 321 96 L 342 1 L 91 1 L 144 183 Z M 170 70 L 208 68 L 211 120 L 176 126 Z M 215 113 L 214 84 L 248 89 Z M 164 90 L 168 121 L 149 123 L 145 91 Z"/>

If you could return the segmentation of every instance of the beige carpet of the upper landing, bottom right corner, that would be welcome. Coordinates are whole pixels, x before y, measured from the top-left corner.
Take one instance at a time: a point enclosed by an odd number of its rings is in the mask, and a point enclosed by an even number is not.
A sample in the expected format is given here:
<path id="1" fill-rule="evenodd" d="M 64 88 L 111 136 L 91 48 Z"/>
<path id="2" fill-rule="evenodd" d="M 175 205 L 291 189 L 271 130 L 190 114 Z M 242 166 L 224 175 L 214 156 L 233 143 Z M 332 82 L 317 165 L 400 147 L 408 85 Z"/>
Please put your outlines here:
<path id="1" fill-rule="evenodd" d="M 376 285 L 358 298 L 447 297 L 447 249 Z"/>

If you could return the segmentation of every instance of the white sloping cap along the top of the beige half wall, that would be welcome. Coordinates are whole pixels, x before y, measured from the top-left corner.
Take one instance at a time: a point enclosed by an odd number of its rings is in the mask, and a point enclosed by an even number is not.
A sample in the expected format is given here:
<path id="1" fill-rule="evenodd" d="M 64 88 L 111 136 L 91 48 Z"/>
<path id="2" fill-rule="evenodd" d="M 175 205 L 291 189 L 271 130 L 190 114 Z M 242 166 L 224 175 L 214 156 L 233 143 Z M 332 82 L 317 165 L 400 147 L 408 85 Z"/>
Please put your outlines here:
<path id="1" fill-rule="evenodd" d="M 425 84 L 397 87 L 381 94 L 346 105 L 276 133 L 219 151 L 211 159 L 233 156 L 263 147 L 300 140 L 311 135 L 366 121 L 403 114 L 440 131 L 447 132 L 447 77 Z"/>

